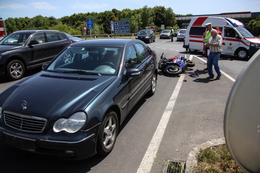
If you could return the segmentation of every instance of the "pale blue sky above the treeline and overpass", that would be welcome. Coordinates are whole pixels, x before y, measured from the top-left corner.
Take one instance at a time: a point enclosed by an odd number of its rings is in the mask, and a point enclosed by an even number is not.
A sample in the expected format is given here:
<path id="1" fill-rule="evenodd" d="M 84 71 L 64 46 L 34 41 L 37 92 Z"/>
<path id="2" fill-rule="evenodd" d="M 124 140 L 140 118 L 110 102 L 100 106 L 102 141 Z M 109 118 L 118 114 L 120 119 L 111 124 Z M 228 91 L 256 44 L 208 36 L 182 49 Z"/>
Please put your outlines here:
<path id="1" fill-rule="evenodd" d="M 148 3 L 149 2 L 149 3 Z M 103 12 L 116 8 L 139 9 L 171 7 L 175 14 L 219 14 L 229 12 L 260 12 L 260 0 L 0 0 L 0 16 L 60 18 L 74 13 Z"/>

